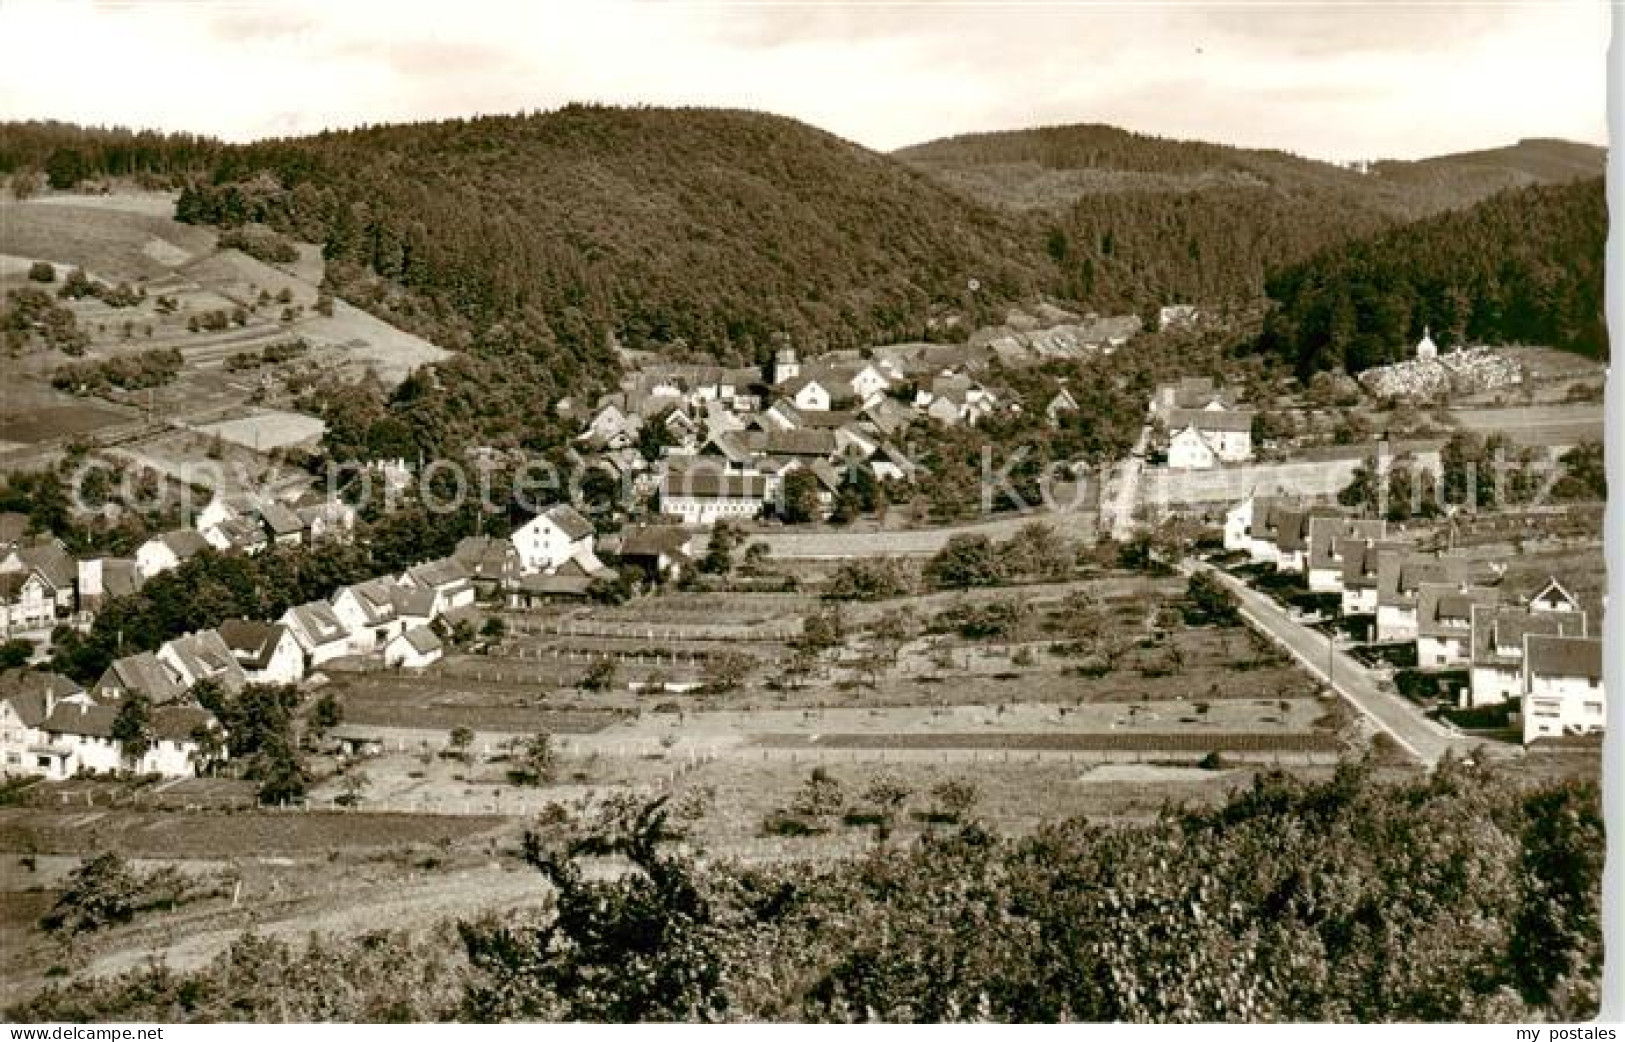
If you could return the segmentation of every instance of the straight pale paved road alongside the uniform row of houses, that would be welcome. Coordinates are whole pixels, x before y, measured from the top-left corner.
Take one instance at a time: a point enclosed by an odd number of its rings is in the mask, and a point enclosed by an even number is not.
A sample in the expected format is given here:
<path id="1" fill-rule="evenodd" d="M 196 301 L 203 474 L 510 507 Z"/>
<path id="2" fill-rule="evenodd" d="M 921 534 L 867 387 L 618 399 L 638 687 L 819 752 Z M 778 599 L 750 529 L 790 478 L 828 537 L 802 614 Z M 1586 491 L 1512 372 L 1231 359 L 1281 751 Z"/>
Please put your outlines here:
<path id="1" fill-rule="evenodd" d="M 1242 580 L 1207 564 L 1206 569 L 1219 577 L 1242 601 L 1242 611 L 1256 627 L 1284 645 L 1310 673 L 1328 679 L 1331 670 L 1331 686 L 1342 697 L 1349 699 L 1372 723 L 1388 732 L 1412 756 L 1427 766 L 1433 766 L 1453 751 L 1458 756 L 1472 748 L 1472 741 L 1456 736 L 1428 720 L 1422 710 L 1394 692 L 1376 686 L 1376 678 L 1360 662 L 1344 652 L 1328 653 L 1326 637 L 1306 626 L 1294 623 L 1285 611 L 1269 597 L 1253 590 Z"/>

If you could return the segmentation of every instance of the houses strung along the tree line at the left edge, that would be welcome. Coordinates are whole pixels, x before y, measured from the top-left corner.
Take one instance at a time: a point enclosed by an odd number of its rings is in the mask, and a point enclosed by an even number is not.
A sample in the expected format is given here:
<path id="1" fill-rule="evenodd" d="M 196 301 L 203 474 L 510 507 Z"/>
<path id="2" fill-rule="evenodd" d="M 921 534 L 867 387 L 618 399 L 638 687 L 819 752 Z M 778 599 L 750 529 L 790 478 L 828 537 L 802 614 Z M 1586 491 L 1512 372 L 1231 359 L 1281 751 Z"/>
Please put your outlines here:
<path id="1" fill-rule="evenodd" d="M 323 519 L 338 515 L 336 510 L 322 514 Z M 205 532 L 218 532 L 244 517 L 247 504 L 211 504 L 198 523 Z M 335 520 L 335 525 L 322 538 L 348 533 L 346 523 Z M 166 533 L 156 541 L 171 549 L 187 548 L 192 541 L 180 536 L 192 535 L 213 546 L 205 532 Z M 629 530 L 621 546 L 622 559 L 648 559 L 666 575 L 681 571 L 692 553 L 689 536 L 668 527 Z M 54 548 L 67 562 L 44 548 Z M 236 541 L 228 549 L 255 553 Z M 72 558 L 55 543 L 36 541 L 10 556 L 26 562 L 21 574 L 29 577 L 75 572 Z M 190 553 L 179 559 L 187 556 Z M 140 569 L 141 559 L 138 554 L 133 562 L 135 582 L 150 577 Z M 106 575 L 106 562 L 99 564 Z M 523 603 L 580 597 L 593 582 L 613 575 L 596 556 L 592 523 L 575 509 L 556 506 L 509 538 L 465 538 L 448 558 L 416 564 L 400 575 L 340 587 L 330 598 L 296 605 L 278 619 L 229 619 L 174 637 L 156 650 L 120 657 L 89 688 L 54 673 L 8 673 L 0 684 L 0 771 L 49 779 L 81 771 L 188 775 L 218 746 L 203 732 L 218 735 L 219 723 L 192 701 L 193 688 L 203 681 L 228 692 L 247 684 L 297 684 L 340 657 L 370 657 L 385 666 L 421 670 L 445 653 L 436 623 L 473 623 L 476 600 Z M 68 584 L 70 593 L 73 588 Z M 109 593 L 106 584 L 99 590 Z M 153 741 L 141 756 L 127 758 L 112 736 L 112 725 L 119 707 L 135 692 L 153 706 Z"/>

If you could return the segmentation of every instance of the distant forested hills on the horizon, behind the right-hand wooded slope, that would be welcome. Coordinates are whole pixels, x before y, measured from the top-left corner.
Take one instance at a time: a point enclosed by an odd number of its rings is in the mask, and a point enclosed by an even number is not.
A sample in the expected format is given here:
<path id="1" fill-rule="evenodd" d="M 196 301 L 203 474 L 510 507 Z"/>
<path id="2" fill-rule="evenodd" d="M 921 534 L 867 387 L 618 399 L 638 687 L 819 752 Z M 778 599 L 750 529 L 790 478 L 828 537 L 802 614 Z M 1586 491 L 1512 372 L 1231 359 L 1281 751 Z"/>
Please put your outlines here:
<path id="1" fill-rule="evenodd" d="M 1516 184 L 1604 171 L 1563 141 L 1357 172 L 1282 151 L 1072 125 L 946 138 L 894 153 L 967 198 L 1027 216 L 1094 306 L 1258 299 L 1269 270 Z"/>

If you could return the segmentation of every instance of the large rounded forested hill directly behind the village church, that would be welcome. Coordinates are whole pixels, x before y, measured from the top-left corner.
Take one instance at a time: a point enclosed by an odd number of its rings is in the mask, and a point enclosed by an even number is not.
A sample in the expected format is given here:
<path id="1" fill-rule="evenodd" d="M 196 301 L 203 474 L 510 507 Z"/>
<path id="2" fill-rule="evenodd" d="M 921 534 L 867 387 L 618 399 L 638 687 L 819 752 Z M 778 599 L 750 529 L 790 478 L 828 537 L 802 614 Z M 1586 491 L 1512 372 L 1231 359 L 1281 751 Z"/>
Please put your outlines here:
<path id="1" fill-rule="evenodd" d="M 752 112 L 570 106 L 323 133 L 234 150 L 213 180 L 182 219 L 325 242 L 341 291 L 361 278 L 346 265 L 369 268 L 466 319 L 463 336 L 518 319 L 582 348 L 614 333 L 749 361 L 777 332 L 808 348 L 926 336 L 1051 278 L 1017 223 Z"/>

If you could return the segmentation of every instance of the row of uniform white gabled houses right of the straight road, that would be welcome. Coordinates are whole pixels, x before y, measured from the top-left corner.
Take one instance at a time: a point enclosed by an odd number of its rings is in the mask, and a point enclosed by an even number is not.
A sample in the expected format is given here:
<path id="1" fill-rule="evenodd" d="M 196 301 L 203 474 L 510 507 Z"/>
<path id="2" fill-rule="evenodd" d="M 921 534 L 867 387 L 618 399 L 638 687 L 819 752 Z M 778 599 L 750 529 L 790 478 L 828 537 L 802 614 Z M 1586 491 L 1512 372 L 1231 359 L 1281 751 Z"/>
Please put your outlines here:
<path id="1" fill-rule="evenodd" d="M 1424 551 L 1381 520 L 1336 507 L 1250 496 L 1225 514 L 1224 545 L 1336 593 L 1376 644 L 1414 644 L 1420 670 L 1464 670 L 1461 706 L 1513 704 L 1524 741 L 1601 732 L 1601 627 L 1552 579 L 1505 603 L 1493 564 Z"/>

